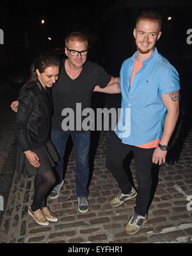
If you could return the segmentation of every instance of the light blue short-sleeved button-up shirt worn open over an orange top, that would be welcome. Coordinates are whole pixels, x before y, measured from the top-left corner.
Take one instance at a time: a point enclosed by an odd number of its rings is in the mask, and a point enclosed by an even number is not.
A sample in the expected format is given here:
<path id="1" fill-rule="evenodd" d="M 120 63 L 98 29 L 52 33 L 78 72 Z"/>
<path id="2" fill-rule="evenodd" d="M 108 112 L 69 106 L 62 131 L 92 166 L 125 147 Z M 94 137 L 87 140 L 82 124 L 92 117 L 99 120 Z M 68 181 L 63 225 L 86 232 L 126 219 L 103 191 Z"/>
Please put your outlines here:
<path id="1" fill-rule="evenodd" d="M 161 94 L 180 89 L 177 70 L 155 51 L 143 61 L 130 81 L 137 52 L 124 61 L 120 70 L 122 105 L 115 132 L 128 145 L 143 145 L 161 139 L 167 110 Z"/>

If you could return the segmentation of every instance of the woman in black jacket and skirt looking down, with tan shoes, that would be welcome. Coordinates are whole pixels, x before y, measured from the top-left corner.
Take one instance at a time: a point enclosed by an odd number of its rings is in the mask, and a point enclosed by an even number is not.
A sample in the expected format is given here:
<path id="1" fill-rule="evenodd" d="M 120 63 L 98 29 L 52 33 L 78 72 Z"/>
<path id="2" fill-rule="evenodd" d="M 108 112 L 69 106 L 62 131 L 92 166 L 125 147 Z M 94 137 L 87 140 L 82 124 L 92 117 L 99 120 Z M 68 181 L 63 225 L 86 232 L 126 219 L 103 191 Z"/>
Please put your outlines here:
<path id="1" fill-rule="evenodd" d="M 59 76 L 60 60 L 52 54 L 41 54 L 31 65 L 31 75 L 20 90 L 16 115 L 18 141 L 16 171 L 35 175 L 35 193 L 28 213 L 39 225 L 58 221 L 47 207 L 47 196 L 56 178 L 52 171 L 59 160 L 49 140 L 52 102 L 51 87 Z"/>

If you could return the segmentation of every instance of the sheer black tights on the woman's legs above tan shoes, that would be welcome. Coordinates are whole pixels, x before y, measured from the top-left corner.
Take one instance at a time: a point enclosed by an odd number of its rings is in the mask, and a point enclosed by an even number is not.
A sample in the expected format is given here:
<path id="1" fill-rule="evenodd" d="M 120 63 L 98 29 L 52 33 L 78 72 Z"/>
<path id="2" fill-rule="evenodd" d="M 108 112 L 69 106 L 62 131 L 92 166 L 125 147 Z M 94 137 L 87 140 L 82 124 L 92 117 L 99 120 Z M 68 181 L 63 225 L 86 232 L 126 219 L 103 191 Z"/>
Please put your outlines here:
<path id="1" fill-rule="evenodd" d="M 31 210 L 34 212 L 47 206 L 47 196 L 49 196 L 56 178 L 53 171 L 38 174 L 35 176 L 35 192 Z"/>

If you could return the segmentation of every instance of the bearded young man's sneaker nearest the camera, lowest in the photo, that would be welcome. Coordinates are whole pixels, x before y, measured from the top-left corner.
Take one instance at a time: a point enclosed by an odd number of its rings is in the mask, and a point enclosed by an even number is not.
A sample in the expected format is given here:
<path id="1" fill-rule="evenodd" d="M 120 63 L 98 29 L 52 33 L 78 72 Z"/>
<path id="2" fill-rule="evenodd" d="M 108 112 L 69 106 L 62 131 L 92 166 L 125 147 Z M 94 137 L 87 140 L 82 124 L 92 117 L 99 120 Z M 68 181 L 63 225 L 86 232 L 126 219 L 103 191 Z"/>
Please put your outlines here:
<path id="1" fill-rule="evenodd" d="M 145 216 L 142 216 L 134 212 L 134 215 L 131 216 L 127 226 L 125 227 L 125 232 L 127 232 L 127 234 L 129 235 L 135 234 L 146 222 L 147 214 L 145 214 Z"/>

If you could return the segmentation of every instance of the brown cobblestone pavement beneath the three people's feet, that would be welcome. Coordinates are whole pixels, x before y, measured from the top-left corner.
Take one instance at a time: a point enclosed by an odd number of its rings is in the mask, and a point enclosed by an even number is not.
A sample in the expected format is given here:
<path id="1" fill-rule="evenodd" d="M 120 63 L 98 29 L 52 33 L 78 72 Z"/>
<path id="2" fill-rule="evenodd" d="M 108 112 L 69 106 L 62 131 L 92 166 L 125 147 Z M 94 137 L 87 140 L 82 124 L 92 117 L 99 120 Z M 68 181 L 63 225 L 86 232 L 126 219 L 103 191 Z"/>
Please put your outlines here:
<path id="1" fill-rule="evenodd" d="M 184 136 L 179 162 L 166 163 L 154 170 L 154 174 L 159 172 L 159 183 L 148 211 L 148 222 L 140 232 L 131 236 L 124 228 L 135 199 L 116 208 L 109 205 L 119 191 L 115 179 L 105 167 L 109 136 L 110 132 L 101 132 L 100 138 L 97 136 L 95 140 L 99 139 L 97 151 L 94 143 L 91 147 L 95 160 L 88 195 L 90 211 L 86 214 L 77 211 L 72 150 L 61 194 L 48 201 L 59 221 L 47 227 L 35 223 L 28 214 L 28 205 L 33 198 L 33 177 L 19 177 L 15 173 L 1 223 L 1 243 L 192 243 L 192 131 Z M 14 150 L 15 143 L 12 144 Z M 133 160 L 131 169 L 137 188 Z M 154 180 L 157 182 L 157 178 Z"/>

